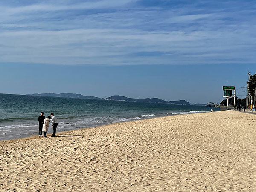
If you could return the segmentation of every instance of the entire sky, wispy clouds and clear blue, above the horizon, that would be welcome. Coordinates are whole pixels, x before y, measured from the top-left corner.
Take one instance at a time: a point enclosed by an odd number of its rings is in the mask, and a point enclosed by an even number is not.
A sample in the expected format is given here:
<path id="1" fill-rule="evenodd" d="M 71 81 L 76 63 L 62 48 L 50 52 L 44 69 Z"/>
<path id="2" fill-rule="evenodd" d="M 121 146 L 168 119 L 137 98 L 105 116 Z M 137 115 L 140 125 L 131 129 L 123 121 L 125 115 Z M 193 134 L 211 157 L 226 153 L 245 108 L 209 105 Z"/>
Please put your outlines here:
<path id="1" fill-rule="evenodd" d="M 0 93 L 243 98 L 255 31 L 253 0 L 0 1 Z"/>

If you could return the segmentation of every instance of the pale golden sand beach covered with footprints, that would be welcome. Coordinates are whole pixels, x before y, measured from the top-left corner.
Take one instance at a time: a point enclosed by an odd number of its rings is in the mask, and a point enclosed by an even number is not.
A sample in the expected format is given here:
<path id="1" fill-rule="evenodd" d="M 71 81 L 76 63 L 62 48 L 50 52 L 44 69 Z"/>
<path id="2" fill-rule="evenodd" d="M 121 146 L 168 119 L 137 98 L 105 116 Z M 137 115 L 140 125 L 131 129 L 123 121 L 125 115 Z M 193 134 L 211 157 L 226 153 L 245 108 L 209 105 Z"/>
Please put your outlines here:
<path id="1" fill-rule="evenodd" d="M 255 119 L 220 111 L 0 142 L 0 190 L 254 191 Z"/>

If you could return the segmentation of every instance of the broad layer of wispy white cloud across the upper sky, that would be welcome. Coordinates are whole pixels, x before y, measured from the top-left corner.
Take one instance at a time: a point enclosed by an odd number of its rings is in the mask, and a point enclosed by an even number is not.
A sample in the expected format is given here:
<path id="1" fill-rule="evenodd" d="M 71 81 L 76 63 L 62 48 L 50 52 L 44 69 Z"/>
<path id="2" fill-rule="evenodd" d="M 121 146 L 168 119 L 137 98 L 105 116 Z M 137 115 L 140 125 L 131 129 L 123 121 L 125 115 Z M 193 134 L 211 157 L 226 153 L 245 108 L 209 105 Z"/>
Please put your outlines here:
<path id="1" fill-rule="evenodd" d="M 253 63 L 252 1 L 62 0 L 0 4 L 0 62 Z"/>

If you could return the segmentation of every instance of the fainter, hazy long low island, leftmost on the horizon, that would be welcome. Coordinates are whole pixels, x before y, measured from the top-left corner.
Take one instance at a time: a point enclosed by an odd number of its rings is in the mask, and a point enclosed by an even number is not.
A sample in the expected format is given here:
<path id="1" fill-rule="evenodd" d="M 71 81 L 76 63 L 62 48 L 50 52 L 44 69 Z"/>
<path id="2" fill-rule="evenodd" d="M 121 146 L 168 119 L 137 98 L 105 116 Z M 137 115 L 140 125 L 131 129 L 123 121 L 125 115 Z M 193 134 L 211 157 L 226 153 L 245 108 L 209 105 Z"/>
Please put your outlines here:
<path id="1" fill-rule="evenodd" d="M 31 95 L 31 94 L 27 94 Z M 35 93 L 32 94 L 32 96 L 46 96 L 46 97 L 64 97 L 64 98 L 77 98 L 77 99 L 97 99 L 97 100 L 104 100 L 103 98 L 99 97 L 94 97 L 94 96 L 84 96 L 81 94 L 76 94 L 76 93 Z"/>

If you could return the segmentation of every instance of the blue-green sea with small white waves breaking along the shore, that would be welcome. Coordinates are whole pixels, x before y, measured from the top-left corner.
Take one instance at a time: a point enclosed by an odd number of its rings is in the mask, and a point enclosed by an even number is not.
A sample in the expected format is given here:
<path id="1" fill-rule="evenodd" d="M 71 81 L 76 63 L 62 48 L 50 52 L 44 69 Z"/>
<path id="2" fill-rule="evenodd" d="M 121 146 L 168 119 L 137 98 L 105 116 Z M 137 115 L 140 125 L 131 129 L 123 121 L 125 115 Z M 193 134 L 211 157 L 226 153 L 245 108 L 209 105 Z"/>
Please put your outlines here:
<path id="1" fill-rule="evenodd" d="M 205 113 L 210 107 L 0 94 L 0 140 L 38 135 L 38 116 L 58 118 L 57 133 L 137 119 Z M 219 111 L 219 108 L 214 108 Z M 52 133 L 49 128 L 47 133 Z"/>

